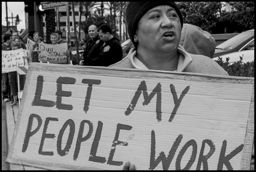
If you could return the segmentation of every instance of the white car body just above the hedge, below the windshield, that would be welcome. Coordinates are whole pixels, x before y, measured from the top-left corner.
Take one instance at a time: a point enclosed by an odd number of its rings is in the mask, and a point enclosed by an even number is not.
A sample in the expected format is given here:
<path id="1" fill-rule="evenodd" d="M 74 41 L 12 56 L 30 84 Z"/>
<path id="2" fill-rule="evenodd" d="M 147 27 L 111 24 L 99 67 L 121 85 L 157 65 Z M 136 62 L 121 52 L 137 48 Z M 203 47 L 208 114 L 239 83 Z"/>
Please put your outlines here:
<path id="1" fill-rule="evenodd" d="M 254 48 L 252 50 L 244 50 L 244 51 L 240 51 L 240 52 L 224 54 L 219 57 L 222 58 L 222 61 L 224 61 L 224 62 L 226 62 L 227 58 L 229 58 L 229 60 L 228 60 L 229 65 L 231 65 L 234 62 L 239 61 L 240 57 L 242 57 L 243 63 L 247 63 L 247 62 L 254 60 Z M 217 61 L 219 59 L 219 57 L 214 57 L 212 59 Z"/>

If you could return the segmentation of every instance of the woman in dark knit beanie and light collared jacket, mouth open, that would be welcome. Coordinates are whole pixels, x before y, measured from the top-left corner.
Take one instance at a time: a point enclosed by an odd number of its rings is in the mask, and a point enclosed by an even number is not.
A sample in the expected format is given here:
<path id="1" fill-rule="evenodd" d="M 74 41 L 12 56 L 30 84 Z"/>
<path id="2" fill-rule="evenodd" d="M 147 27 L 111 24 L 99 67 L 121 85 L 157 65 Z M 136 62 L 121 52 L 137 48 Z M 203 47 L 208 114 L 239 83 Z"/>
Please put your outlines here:
<path id="1" fill-rule="evenodd" d="M 183 18 L 174 2 L 130 2 L 126 22 L 135 48 L 111 67 L 228 75 L 216 61 L 179 45 Z"/>

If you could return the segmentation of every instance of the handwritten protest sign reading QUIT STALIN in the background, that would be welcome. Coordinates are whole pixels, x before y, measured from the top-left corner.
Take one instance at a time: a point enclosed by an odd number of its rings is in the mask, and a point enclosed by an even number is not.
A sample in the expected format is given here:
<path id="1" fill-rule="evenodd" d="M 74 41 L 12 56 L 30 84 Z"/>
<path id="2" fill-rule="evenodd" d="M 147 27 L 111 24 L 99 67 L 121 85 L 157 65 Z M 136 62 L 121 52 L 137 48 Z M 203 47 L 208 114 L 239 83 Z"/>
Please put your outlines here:
<path id="1" fill-rule="evenodd" d="M 68 43 L 51 45 L 39 43 L 39 61 L 48 61 L 51 63 L 67 62 Z"/>

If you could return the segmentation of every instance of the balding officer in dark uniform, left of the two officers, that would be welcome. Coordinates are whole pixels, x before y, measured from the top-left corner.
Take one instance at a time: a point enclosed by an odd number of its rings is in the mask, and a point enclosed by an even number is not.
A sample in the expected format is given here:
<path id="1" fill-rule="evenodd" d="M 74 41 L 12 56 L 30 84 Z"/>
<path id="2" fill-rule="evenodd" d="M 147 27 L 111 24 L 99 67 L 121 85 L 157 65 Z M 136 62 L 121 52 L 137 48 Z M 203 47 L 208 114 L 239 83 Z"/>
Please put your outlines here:
<path id="1" fill-rule="evenodd" d="M 86 49 L 83 52 L 83 60 L 80 61 L 80 65 L 90 66 L 90 62 L 100 54 L 104 42 L 100 39 L 97 29 L 95 25 L 88 28 L 91 39 L 86 42 Z"/>

